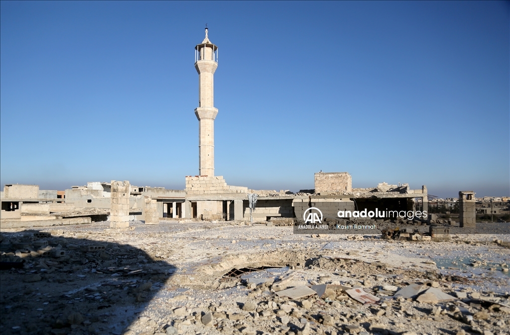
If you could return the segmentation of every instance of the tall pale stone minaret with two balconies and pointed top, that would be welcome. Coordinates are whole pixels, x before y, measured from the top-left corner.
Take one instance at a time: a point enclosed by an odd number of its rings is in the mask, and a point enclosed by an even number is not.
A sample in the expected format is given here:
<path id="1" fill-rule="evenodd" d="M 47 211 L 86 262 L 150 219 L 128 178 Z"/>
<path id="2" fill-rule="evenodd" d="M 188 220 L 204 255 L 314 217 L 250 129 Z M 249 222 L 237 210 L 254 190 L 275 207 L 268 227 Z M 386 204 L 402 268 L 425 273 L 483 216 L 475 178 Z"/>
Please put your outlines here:
<path id="1" fill-rule="evenodd" d="M 207 36 L 195 47 L 195 69 L 198 72 L 198 173 L 214 176 L 214 119 L 218 109 L 214 108 L 214 71 L 218 67 L 218 47 Z"/>

